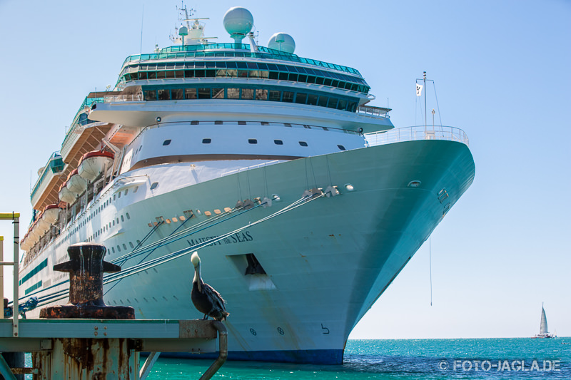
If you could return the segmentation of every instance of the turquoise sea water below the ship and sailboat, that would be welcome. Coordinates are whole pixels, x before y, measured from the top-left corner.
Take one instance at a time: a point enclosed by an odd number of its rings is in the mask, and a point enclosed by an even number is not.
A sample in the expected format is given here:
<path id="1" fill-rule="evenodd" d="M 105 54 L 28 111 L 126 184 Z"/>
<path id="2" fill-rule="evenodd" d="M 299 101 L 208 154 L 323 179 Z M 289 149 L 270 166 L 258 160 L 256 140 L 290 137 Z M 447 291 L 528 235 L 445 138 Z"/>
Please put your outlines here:
<path id="1" fill-rule="evenodd" d="M 198 379 L 212 362 L 158 359 L 147 379 Z M 343 365 L 226 361 L 213 379 L 571 379 L 571 338 L 350 340 Z"/>

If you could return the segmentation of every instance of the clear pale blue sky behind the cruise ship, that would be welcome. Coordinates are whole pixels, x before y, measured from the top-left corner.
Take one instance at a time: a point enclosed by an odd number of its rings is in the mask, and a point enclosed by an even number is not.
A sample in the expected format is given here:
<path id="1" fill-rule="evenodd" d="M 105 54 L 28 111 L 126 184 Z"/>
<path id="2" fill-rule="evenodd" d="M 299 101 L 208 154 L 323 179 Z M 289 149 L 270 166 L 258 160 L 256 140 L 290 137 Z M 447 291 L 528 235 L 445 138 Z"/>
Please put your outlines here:
<path id="1" fill-rule="evenodd" d="M 357 68 L 396 127 L 422 120 L 427 71 L 443 125 L 470 138 L 475 181 L 431 239 L 433 306 L 425 244 L 351 338 L 528 337 L 542 302 L 550 330 L 571 335 L 571 1 L 202 3 L 187 5 L 218 41 L 231 41 L 226 10 L 245 6 L 262 45 L 284 31 L 299 56 Z M 143 53 L 168 46 L 176 5 L 0 0 L 0 211 L 21 212 L 21 235 L 30 183 L 86 94 L 139 53 L 141 16 Z M 0 235 L 10 256 L 8 222 Z"/>

